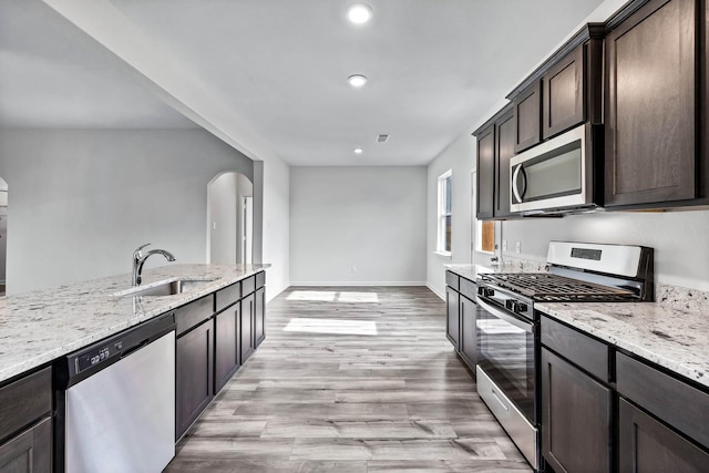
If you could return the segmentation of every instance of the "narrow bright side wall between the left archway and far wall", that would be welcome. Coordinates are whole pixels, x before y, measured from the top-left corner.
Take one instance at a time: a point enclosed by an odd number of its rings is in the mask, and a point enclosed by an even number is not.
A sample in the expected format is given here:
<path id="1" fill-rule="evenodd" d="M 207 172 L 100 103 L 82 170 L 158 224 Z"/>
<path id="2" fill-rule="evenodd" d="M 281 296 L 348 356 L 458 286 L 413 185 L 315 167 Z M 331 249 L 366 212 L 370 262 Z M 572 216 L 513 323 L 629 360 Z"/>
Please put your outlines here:
<path id="1" fill-rule="evenodd" d="M 254 248 L 254 260 L 270 263 L 266 270 L 266 300 L 278 296 L 290 286 L 290 167 L 279 158 L 254 163 L 254 182 L 264 183 L 263 202 L 254 188 L 254 240 L 263 240 Z M 256 222 L 263 219 L 261 227 Z M 261 258 L 261 259 L 257 259 Z"/>

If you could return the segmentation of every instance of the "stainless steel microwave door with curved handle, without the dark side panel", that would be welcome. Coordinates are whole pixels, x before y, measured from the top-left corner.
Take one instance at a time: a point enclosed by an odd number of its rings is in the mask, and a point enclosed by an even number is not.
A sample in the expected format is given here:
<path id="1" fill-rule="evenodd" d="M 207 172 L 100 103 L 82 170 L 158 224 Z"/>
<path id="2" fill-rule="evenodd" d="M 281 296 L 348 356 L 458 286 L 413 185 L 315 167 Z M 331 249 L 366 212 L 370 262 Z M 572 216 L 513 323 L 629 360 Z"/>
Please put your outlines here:
<path id="1" fill-rule="evenodd" d="M 512 212 L 535 213 L 589 204 L 586 126 L 580 125 L 510 162 Z"/>

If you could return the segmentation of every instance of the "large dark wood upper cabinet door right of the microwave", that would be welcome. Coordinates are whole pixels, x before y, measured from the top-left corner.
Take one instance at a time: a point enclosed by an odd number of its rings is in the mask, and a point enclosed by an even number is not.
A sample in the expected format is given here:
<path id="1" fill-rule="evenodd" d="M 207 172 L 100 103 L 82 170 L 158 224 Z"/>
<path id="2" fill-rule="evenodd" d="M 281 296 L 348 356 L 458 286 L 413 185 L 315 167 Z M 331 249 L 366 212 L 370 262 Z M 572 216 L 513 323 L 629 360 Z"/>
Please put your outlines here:
<path id="1" fill-rule="evenodd" d="M 696 196 L 695 14 L 653 0 L 606 38 L 606 206 Z"/>

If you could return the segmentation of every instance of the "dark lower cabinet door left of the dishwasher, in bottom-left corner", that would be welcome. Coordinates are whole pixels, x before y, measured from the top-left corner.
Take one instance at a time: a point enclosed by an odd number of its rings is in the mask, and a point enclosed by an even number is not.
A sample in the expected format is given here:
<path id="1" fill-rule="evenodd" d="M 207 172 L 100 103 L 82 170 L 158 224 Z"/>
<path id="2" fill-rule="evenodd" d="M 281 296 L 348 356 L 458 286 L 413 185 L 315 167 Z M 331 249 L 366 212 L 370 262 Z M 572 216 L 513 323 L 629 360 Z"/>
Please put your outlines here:
<path id="1" fill-rule="evenodd" d="M 0 473 L 49 473 L 52 471 L 52 420 L 0 445 Z"/>

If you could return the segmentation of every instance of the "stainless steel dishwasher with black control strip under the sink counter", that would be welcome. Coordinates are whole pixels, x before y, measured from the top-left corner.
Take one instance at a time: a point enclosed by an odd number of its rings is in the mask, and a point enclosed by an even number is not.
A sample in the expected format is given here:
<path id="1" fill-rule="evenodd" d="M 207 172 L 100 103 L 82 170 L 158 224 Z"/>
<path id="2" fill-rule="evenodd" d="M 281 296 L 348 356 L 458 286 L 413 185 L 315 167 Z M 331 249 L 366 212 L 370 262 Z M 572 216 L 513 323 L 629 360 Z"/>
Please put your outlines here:
<path id="1" fill-rule="evenodd" d="M 175 319 L 160 317 L 68 356 L 55 466 L 162 471 L 175 455 Z M 63 379 L 63 380 L 62 380 Z"/>

